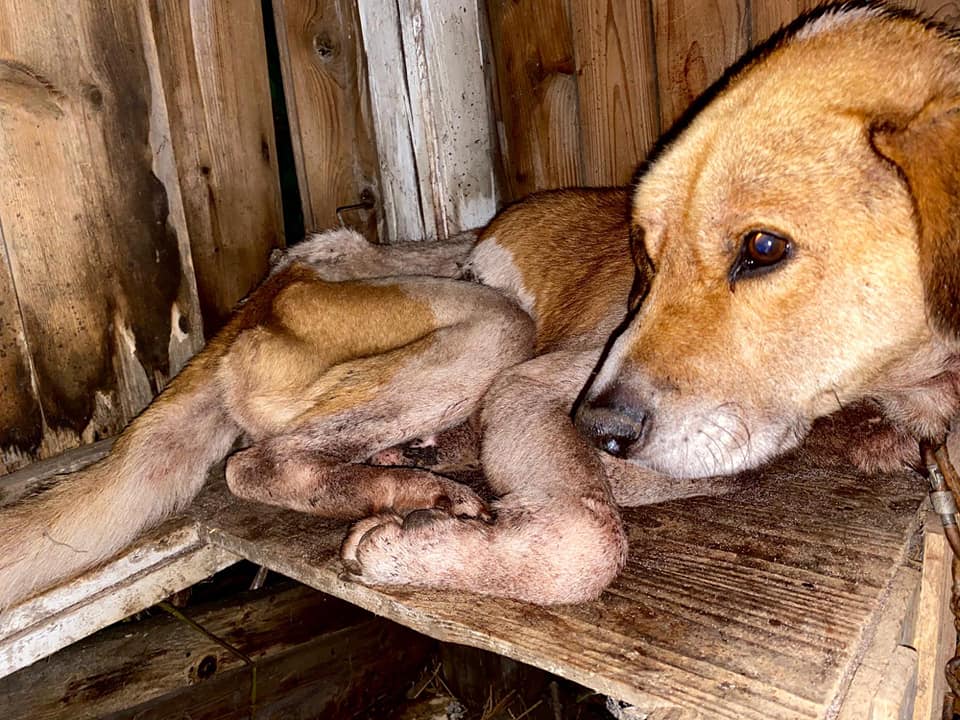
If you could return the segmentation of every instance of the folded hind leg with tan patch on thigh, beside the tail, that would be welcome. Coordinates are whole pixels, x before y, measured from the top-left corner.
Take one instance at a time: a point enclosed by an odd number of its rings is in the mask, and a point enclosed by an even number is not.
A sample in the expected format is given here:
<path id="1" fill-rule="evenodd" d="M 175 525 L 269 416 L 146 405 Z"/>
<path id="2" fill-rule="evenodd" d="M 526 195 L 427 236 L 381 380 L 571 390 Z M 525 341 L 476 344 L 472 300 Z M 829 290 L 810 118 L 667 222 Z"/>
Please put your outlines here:
<path id="1" fill-rule="evenodd" d="M 395 291 L 392 304 L 386 296 L 370 302 L 384 287 Z M 466 420 L 494 378 L 529 357 L 531 320 L 489 288 L 450 280 L 364 283 L 356 297 L 359 306 L 344 296 L 322 308 L 349 316 L 336 320 L 336 333 L 320 333 L 341 343 L 336 362 L 313 367 L 313 356 L 331 351 L 298 333 L 295 319 L 249 336 L 225 358 L 228 404 L 254 439 L 228 460 L 228 484 L 247 499 L 333 517 L 429 507 L 482 514 L 479 498 L 452 480 L 360 463 Z M 429 310 L 429 323 L 414 327 L 418 308 Z M 399 332 L 402 323 L 413 329 Z M 291 384 L 298 373 L 307 380 Z"/>

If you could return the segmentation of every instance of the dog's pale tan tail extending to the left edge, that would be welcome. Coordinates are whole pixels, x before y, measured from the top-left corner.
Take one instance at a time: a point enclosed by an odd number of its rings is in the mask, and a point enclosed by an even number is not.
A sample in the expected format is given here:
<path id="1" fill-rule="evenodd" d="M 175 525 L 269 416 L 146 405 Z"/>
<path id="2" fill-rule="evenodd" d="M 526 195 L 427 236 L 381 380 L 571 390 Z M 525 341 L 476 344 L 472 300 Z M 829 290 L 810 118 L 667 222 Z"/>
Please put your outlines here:
<path id="1" fill-rule="evenodd" d="M 239 435 L 208 346 L 117 439 L 110 454 L 0 510 L 0 609 L 110 557 L 183 508 Z"/>

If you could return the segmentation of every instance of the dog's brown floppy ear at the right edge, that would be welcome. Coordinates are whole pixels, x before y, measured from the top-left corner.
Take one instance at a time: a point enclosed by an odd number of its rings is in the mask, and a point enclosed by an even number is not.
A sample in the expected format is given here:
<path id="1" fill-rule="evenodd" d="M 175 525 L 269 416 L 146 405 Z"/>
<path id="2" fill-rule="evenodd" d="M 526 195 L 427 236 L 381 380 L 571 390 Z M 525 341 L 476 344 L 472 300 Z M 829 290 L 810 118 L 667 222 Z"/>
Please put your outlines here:
<path id="1" fill-rule="evenodd" d="M 960 98 L 932 100 L 908 120 L 877 123 L 871 139 L 913 195 L 930 325 L 960 340 Z"/>

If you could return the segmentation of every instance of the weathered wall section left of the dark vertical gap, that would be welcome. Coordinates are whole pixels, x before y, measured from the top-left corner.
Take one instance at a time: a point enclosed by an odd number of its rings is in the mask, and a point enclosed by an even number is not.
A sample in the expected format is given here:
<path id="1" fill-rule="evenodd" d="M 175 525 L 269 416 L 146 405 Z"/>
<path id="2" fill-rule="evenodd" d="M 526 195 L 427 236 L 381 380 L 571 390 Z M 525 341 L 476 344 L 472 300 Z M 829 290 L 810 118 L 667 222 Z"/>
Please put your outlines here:
<path id="1" fill-rule="evenodd" d="M 0 470 L 116 433 L 282 243 L 260 12 L 0 3 Z"/>

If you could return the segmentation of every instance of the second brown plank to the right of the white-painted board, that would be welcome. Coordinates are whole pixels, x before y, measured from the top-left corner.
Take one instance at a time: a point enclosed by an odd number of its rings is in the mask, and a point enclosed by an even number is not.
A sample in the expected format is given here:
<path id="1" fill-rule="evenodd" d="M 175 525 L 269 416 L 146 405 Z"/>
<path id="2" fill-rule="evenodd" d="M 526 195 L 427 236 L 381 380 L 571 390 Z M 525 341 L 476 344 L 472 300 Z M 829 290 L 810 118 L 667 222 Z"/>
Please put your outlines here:
<path id="1" fill-rule="evenodd" d="M 571 3 L 587 185 L 626 185 L 660 136 L 653 17 L 645 2 Z"/>

